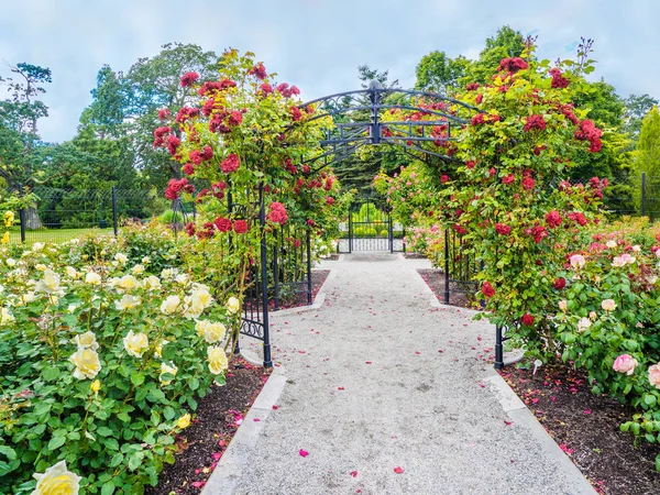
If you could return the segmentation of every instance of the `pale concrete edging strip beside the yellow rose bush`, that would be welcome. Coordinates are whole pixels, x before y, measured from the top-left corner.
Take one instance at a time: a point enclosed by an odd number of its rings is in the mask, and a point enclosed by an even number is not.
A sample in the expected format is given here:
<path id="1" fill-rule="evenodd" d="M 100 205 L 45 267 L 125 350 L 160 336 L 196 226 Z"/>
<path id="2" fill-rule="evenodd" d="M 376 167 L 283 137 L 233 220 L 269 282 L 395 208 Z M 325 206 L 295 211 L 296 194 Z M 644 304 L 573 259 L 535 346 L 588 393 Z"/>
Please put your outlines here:
<path id="1" fill-rule="evenodd" d="M 273 369 L 200 495 L 229 495 L 235 492 L 243 468 L 286 386 L 286 380 L 282 366 Z"/>

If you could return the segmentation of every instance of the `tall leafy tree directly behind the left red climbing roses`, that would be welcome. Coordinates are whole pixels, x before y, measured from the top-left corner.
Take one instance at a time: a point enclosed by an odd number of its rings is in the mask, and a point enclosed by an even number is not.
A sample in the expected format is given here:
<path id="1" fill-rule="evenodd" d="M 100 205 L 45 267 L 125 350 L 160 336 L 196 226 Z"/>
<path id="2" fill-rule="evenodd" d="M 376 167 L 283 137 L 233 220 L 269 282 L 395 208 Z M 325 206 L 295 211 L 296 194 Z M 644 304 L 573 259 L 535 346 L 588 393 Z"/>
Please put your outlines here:
<path id="1" fill-rule="evenodd" d="M 189 101 L 180 87 L 185 73 L 200 80 L 217 80 L 219 57 L 194 44 L 168 43 L 152 58 L 140 58 L 123 78 L 127 91 L 124 118 L 131 122 L 135 166 L 150 184 L 163 187 L 170 177 L 180 177 L 180 164 L 163 150 L 154 150 L 153 131 L 160 125 L 158 111 L 176 112 Z"/>

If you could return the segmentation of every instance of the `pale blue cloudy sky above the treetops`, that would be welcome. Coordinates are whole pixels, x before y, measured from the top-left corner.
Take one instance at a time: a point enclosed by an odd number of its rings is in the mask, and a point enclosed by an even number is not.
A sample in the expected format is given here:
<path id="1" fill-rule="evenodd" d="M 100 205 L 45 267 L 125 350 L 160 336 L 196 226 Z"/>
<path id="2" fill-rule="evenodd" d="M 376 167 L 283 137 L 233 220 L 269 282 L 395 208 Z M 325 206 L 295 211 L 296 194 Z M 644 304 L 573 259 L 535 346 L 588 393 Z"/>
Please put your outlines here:
<path id="1" fill-rule="evenodd" d="M 52 69 L 40 132 L 61 142 L 76 134 L 103 64 L 128 72 L 168 42 L 254 52 L 311 100 L 359 89 L 361 64 L 413 87 L 424 55 L 476 58 L 509 25 L 537 35 L 551 61 L 591 37 L 593 77 L 623 97 L 660 98 L 659 21 L 659 0 L 0 0 L 0 76 L 21 62 Z"/>

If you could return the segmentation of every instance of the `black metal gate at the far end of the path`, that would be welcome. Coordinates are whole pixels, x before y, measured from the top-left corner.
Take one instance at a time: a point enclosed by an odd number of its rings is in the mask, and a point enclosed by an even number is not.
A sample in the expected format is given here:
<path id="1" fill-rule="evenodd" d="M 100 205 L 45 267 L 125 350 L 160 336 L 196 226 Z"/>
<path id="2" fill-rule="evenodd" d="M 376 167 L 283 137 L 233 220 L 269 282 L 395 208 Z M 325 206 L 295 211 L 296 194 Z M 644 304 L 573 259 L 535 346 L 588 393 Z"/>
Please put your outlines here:
<path id="1" fill-rule="evenodd" d="M 351 205 L 349 217 L 340 224 L 340 231 L 342 237 L 337 245 L 338 253 L 406 251 L 404 226 L 394 222 L 389 212 L 380 210 L 373 202 Z"/>

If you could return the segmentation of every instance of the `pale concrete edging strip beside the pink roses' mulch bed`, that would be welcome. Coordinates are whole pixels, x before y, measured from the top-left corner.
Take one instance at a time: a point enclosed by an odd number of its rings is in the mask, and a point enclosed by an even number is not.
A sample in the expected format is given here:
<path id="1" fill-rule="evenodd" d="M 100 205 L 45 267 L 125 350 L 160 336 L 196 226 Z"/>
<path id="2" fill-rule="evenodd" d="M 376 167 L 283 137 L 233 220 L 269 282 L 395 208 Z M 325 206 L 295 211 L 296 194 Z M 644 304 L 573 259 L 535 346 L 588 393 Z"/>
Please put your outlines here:
<path id="1" fill-rule="evenodd" d="M 543 426 L 538 421 L 536 416 L 531 414 L 520 397 L 516 395 L 513 388 L 499 376 L 494 374 L 485 377 L 482 382 L 491 385 L 495 391 L 495 396 L 506 415 L 516 424 L 526 428 L 531 436 L 539 442 L 540 448 L 553 459 L 563 471 L 566 479 L 579 487 L 581 494 L 596 494 L 597 492 L 592 484 L 584 477 L 582 471 L 578 469 L 573 461 L 559 448 L 550 433 L 546 431 Z"/>

